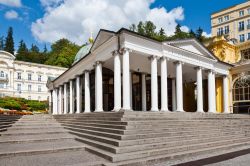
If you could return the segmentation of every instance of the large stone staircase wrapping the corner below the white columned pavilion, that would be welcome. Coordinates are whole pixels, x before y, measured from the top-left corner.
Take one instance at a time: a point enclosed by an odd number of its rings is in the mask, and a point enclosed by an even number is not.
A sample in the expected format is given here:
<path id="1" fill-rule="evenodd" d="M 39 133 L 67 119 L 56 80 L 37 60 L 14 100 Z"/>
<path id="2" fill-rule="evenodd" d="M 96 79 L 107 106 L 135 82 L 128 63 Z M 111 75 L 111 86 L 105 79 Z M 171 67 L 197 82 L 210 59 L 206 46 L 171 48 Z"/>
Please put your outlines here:
<path id="1" fill-rule="evenodd" d="M 89 145 L 89 152 L 113 165 L 144 165 L 250 146 L 249 115 L 126 111 L 54 117 L 76 140 Z"/>

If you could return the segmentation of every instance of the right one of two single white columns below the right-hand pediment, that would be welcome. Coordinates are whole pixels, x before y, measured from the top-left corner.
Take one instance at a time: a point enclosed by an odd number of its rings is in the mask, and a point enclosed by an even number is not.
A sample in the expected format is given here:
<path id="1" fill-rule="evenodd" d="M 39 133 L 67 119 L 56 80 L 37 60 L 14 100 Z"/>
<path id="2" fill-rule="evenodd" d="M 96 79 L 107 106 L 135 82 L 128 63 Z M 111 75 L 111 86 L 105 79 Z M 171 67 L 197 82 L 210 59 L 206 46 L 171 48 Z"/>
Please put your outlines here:
<path id="1" fill-rule="evenodd" d="M 196 67 L 196 83 L 197 83 L 197 112 L 203 111 L 203 88 L 202 88 L 202 69 Z"/>

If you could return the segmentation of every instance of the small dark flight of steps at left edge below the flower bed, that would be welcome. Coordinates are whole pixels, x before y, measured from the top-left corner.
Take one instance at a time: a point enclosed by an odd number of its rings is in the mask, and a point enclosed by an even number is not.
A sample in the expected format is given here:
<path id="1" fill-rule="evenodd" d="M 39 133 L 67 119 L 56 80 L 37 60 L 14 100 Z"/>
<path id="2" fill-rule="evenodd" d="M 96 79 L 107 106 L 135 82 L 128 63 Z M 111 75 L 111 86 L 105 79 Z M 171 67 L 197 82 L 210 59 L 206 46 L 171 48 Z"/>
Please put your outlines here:
<path id="1" fill-rule="evenodd" d="M 6 131 L 8 127 L 11 127 L 21 116 L 17 115 L 0 115 L 0 132 Z"/>

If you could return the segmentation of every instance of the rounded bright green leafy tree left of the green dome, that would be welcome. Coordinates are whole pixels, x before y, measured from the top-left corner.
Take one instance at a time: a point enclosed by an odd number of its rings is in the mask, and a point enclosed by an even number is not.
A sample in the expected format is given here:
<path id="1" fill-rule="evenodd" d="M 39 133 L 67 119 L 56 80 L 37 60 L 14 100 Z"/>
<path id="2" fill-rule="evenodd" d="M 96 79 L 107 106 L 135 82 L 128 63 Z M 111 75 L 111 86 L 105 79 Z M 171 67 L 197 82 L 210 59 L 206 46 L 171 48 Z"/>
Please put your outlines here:
<path id="1" fill-rule="evenodd" d="M 70 67 L 79 49 L 80 46 L 69 40 L 60 39 L 51 45 L 51 51 L 48 53 L 48 59 L 45 64 Z"/>

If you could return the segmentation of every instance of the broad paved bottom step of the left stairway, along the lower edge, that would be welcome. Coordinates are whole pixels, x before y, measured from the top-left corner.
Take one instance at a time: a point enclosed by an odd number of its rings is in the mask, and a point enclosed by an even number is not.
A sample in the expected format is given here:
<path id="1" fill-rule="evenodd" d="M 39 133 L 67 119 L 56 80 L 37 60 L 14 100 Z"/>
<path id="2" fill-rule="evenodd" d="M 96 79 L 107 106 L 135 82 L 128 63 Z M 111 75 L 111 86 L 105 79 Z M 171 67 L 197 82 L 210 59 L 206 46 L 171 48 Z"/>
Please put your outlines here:
<path id="1" fill-rule="evenodd" d="M 5 166 L 104 166 L 108 161 L 85 150 L 0 158 Z M 18 163 L 18 164 L 17 164 Z"/>

